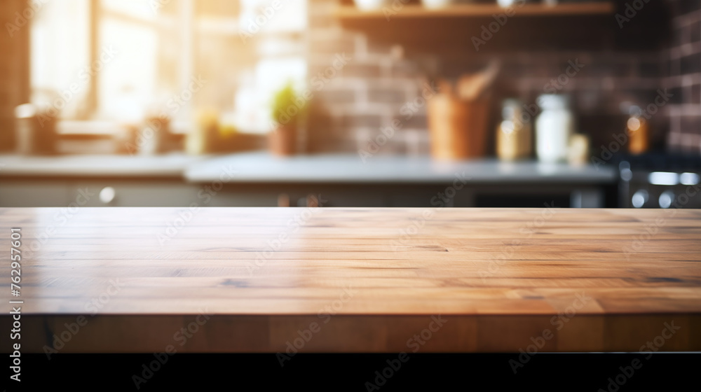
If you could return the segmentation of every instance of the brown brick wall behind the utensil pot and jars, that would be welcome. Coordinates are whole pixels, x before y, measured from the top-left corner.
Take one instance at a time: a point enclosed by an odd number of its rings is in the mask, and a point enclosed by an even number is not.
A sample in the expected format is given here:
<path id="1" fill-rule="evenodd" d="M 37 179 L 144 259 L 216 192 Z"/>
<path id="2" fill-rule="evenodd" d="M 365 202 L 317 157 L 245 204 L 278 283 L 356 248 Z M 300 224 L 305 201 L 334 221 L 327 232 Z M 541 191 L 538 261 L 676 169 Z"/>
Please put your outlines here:
<path id="1" fill-rule="evenodd" d="M 626 102 L 645 108 L 667 88 L 672 99 L 649 119 L 653 148 L 674 150 L 683 146 L 699 151 L 701 56 L 697 0 L 651 1 L 620 29 L 611 15 L 593 22 L 604 31 L 599 38 L 590 38 L 586 31 L 568 38 L 576 41 L 579 34 L 594 48 L 570 48 L 565 40 L 565 45 L 550 48 L 489 43 L 495 50 L 479 52 L 468 45 L 462 50 L 445 48 L 439 42 L 433 51 L 417 52 L 407 45 L 383 43 L 373 34 L 344 29 L 333 17 L 337 1 L 341 0 L 310 0 L 308 8 L 309 76 L 319 76 L 337 53 L 350 57 L 348 64 L 333 73 L 315 94 L 309 130 L 311 151 L 358 151 L 399 119 L 401 129 L 380 153 L 427 153 L 426 106 L 416 105 L 422 86 L 435 76 L 457 78 L 461 73 L 476 71 L 494 58 L 501 59 L 503 68 L 492 89 L 490 130 L 501 116 L 502 99 L 517 97 L 525 103 L 536 102 L 544 90 L 552 90 L 549 83 L 564 73 L 570 62 L 577 61 L 584 66 L 558 87 L 571 95 L 578 131 L 590 134 L 594 150 L 625 128 Z M 618 12 L 623 9 L 625 2 L 618 1 Z M 670 29 L 667 10 L 674 15 L 671 38 L 665 35 Z M 509 27 L 517 36 L 519 26 L 515 24 Z M 394 27 L 388 22 L 386 29 Z M 559 34 L 548 29 L 552 27 L 543 29 L 546 36 Z M 402 110 L 407 113 L 406 105 L 412 102 L 414 106 L 409 107 L 416 110 L 406 120 Z"/>

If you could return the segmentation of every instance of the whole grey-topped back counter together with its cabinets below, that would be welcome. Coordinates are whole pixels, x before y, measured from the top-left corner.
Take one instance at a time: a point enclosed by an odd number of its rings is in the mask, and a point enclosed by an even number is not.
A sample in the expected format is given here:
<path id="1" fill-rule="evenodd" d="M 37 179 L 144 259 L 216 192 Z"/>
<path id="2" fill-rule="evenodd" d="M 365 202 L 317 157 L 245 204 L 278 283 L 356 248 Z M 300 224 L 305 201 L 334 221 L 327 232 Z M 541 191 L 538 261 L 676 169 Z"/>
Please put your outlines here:
<path id="1" fill-rule="evenodd" d="M 309 195 L 325 207 L 615 207 L 617 177 L 613 165 L 428 156 L 0 155 L 0 207 L 65 207 L 106 188 L 114 197 L 83 207 L 294 206 Z"/>

